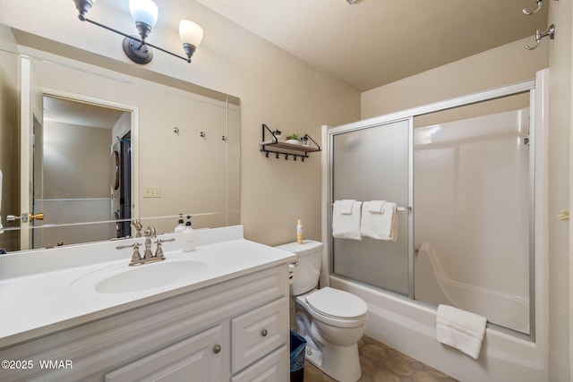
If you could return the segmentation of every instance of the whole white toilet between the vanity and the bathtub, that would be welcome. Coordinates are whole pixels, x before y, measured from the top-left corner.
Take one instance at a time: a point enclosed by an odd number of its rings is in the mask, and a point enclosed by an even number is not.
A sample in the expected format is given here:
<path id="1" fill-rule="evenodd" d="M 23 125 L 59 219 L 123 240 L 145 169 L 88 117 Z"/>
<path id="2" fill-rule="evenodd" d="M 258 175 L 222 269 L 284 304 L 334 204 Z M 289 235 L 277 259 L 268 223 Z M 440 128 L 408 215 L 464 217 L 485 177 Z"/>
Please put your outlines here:
<path id="1" fill-rule="evenodd" d="M 305 240 L 279 245 L 296 255 L 290 295 L 295 298 L 295 322 L 307 341 L 306 360 L 340 382 L 362 376 L 358 340 L 364 333 L 368 306 L 352 293 L 318 289 L 322 243 Z"/>

